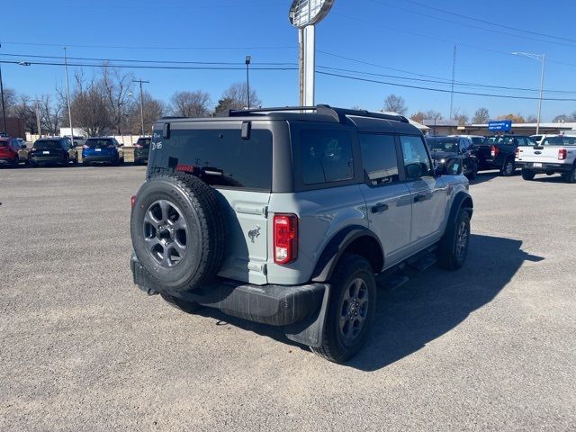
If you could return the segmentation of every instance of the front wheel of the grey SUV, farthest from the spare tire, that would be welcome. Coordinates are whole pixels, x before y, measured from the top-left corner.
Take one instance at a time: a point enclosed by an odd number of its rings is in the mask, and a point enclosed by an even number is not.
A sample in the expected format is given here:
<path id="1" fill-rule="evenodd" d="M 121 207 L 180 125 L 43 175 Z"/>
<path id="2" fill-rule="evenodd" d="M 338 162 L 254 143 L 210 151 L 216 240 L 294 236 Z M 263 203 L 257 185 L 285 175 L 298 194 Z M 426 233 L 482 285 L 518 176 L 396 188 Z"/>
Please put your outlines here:
<path id="1" fill-rule="evenodd" d="M 457 270 L 464 266 L 470 246 L 470 215 L 461 210 L 453 226 L 446 229 L 438 249 L 438 266 Z"/>

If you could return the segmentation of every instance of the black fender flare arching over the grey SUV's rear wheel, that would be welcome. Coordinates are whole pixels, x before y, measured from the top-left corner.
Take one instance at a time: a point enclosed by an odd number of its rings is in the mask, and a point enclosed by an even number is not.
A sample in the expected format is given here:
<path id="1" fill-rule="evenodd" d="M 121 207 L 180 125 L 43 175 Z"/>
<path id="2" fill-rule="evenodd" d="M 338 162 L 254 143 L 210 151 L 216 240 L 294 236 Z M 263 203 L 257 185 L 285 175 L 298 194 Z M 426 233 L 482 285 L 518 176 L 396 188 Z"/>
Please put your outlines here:
<path id="1" fill-rule="evenodd" d="M 347 247 L 358 238 L 363 237 L 373 238 L 378 244 L 378 247 L 380 247 L 380 252 L 383 257 L 382 266 L 380 266 L 380 269 L 382 269 L 384 265 L 384 249 L 378 236 L 366 227 L 361 225 L 351 225 L 345 229 L 341 229 L 337 234 L 330 238 L 330 241 L 326 247 L 324 247 L 320 258 L 314 267 L 314 271 L 311 275 L 312 282 L 329 281 L 330 277 L 332 277 L 332 272 L 338 264 L 339 258 L 342 257 Z"/>

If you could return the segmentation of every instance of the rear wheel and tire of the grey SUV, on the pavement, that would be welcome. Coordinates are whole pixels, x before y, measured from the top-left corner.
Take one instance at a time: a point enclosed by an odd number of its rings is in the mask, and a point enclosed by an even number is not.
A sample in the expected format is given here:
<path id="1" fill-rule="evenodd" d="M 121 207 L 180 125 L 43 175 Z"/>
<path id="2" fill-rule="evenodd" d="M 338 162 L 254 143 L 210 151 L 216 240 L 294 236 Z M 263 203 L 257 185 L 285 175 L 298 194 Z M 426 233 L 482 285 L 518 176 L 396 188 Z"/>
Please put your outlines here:
<path id="1" fill-rule="evenodd" d="M 338 261 L 331 280 L 322 345 L 311 349 L 330 362 L 343 363 L 363 347 L 372 328 L 376 280 L 364 257 L 347 254 Z"/>

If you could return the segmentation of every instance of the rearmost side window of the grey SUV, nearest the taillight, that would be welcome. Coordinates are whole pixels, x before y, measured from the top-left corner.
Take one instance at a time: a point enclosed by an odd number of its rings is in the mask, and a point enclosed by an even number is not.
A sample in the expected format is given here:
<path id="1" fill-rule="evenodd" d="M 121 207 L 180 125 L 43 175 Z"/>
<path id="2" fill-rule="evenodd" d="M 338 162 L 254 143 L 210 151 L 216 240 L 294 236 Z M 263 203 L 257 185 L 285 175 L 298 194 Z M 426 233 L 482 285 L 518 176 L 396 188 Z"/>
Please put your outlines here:
<path id="1" fill-rule="evenodd" d="M 343 130 L 301 130 L 302 182 L 332 183 L 354 177 L 350 134 Z"/>

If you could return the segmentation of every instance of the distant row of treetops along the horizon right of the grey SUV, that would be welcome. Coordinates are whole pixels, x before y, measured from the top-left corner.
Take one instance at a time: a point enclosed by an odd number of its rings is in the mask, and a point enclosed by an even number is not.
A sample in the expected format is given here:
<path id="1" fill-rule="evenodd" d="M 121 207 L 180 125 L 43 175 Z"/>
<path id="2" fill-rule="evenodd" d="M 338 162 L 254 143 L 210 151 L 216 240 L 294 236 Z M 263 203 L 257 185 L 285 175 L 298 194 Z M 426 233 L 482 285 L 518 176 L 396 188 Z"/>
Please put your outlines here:
<path id="1" fill-rule="evenodd" d="M 401 115 L 406 115 L 408 112 L 408 107 L 406 106 L 406 102 L 401 96 L 396 94 L 390 94 L 384 99 L 384 112 L 397 112 Z M 460 112 L 459 110 L 455 110 L 453 117 L 460 125 L 464 125 L 469 121 L 473 123 L 487 123 L 491 120 L 490 112 L 487 108 L 479 108 L 474 112 L 472 119 L 470 119 L 465 112 Z M 429 120 L 443 120 L 444 116 L 441 112 L 437 112 L 435 110 L 429 111 L 418 111 L 414 112 L 410 115 L 410 119 L 413 121 L 422 122 L 425 119 Z M 528 115 L 527 117 L 522 116 L 519 112 L 509 113 L 505 115 L 499 115 L 496 117 L 496 120 L 511 120 L 515 123 L 536 123 L 537 118 L 536 115 Z M 572 114 L 560 114 L 554 117 L 554 122 L 563 122 L 563 121 L 576 121 L 576 112 L 572 112 Z"/>

